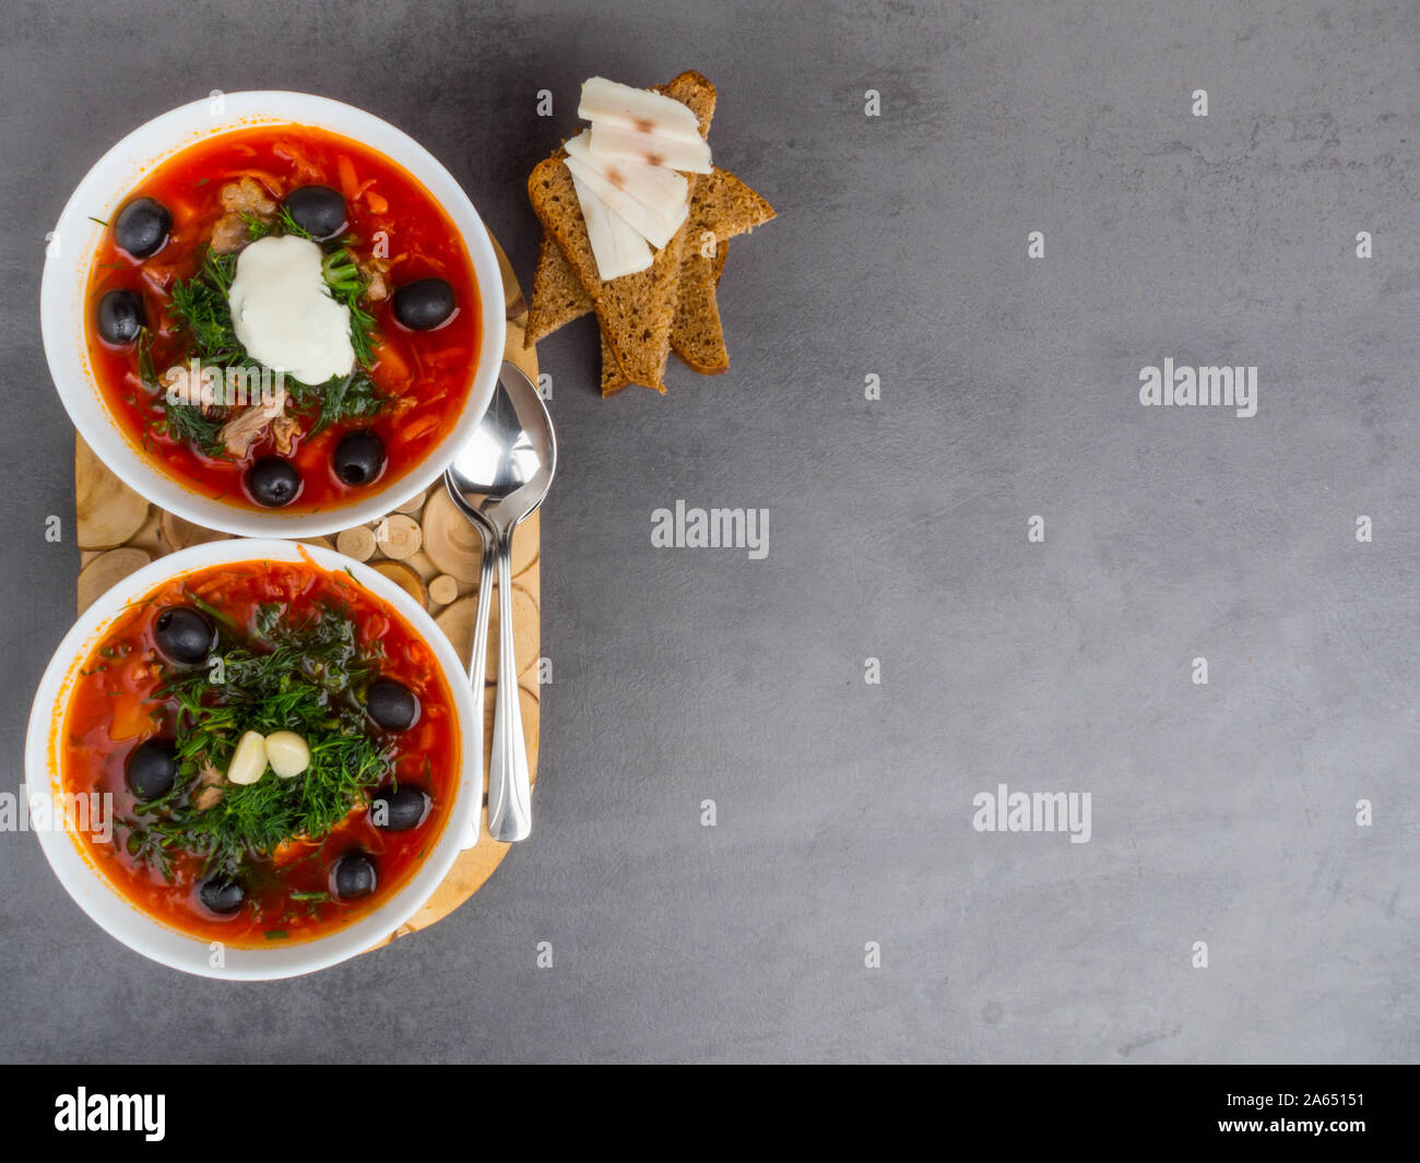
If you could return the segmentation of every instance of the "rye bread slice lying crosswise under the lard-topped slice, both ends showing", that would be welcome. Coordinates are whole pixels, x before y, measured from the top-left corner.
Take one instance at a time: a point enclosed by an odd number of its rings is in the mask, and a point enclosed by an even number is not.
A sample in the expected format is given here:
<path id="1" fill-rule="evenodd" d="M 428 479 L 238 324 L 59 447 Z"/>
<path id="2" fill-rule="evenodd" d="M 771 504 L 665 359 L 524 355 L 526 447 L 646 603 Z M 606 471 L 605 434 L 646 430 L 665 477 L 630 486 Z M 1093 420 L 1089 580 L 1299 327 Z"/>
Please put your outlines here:
<path id="1" fill-rule="evenodd" d="M 747 234 L 755 226 L 763 226 L 774 217 L 774 207 L 758 193 L 736 178 L 730 170 L 716 169 L 713 173 L 701 175 L 696 186 L 696 200 L 690 207 L 693 216 L 690 249 L 680 260 L 680 278 L 703 278 L 699 268 L 697 239 L 703 239 L 706 230 L 723 244 L 726 239 L 737 234 Z M 721 263 L 721 267 L 724 264 Z M 699 291 L 703 297 L 704 291 Z M 568 266 L 561 247 L 552 243 L 551 236 L 542 234 L 542 250 L 538 254 L 537 274 L 532 278 L 532 304 L 528 308 L 528 328 L 524 345 L 532 346 L 540 339 L 547 338 L 559 327 L 581 318 L 592 308 L 592 300 L 582 290 L 582 283 Z M 670 325 L 670 345 L 676 354 L 684 359 L 677 324 Z M 687 361 L 689 362 L 689 361 Z"/>

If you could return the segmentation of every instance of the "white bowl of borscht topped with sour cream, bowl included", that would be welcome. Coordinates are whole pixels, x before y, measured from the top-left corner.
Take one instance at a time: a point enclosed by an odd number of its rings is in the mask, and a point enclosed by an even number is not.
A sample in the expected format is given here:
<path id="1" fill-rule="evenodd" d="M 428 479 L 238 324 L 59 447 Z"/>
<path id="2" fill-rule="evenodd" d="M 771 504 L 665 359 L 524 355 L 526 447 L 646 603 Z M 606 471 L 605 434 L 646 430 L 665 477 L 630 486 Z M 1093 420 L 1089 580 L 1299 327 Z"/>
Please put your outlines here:
<path id="1" fill-rule="evenodd" d="M 132 488 L 314 537 L 426 488 L 503 359 L 498 261 L 453 176 L 371 114 L 214 92 L 133 131 L 50 239 L 44 349 Z"/>

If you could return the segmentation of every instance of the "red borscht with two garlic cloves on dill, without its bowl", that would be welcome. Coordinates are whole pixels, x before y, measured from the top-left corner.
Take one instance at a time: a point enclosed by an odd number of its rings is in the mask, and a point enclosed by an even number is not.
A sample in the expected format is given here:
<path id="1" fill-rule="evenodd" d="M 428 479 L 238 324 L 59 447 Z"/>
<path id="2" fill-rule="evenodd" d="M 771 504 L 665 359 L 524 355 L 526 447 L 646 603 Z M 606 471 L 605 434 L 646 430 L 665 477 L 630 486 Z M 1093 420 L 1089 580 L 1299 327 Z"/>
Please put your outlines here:
<path id="1" fill-rule="evenodd" d="M 80 832 L 149 916 L 200 940 L 324 936 L 408 883 L 447 822 L 457 711 L 433 650 L 339 569 L 195 569 L 129 604 L 58 734 Z M 95 799 L 94 795 L 99 798 Z"/>

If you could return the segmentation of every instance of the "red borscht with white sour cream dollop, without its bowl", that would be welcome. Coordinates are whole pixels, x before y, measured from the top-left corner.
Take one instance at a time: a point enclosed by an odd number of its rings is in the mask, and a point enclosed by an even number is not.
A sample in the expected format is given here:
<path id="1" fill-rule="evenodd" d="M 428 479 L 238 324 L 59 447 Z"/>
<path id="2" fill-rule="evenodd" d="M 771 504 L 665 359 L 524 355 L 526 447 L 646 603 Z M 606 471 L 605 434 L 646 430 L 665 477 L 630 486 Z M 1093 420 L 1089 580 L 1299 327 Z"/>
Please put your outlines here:
<path id="1" fill-rule="evenodd" d="M 417 466 L 463 410 L 480 300 L 405 169 L 325 129 L 216 135 L 104 223 L 87 346 L 129 440 L 244 508 L 314 513 Z"/>

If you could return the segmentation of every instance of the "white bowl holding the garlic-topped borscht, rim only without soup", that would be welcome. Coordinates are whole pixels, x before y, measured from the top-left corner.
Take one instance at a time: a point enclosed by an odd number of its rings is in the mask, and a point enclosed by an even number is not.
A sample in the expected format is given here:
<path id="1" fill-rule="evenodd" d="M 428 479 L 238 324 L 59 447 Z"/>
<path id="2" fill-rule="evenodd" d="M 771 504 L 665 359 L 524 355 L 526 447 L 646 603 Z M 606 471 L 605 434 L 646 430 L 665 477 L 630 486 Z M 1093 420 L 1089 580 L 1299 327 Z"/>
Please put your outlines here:
<path id="1" fill-rule="evenodd" d="M 48 802 L 60 802 L 54 798 L 62 791 L 58 740 L 62 737 L 64 719 L 78 669 L 129 602 L 170 578 L 193 569 L 239 561 L 300 561 L 302 550 L 311 555 L 317 565 L 348 569 L 361 586 L 398 609 L 433 650 L 444 682 L 453 694 L 459 723 L 462 767 L 454 784 L 454 802 L 443 832 L 429 855 L 415 869 L 413 876 L 395 896 L 372 913 L 345 929 L 300 944 L 271 949 L 227 949 L 226 963 L 220 967 L 212 966 L 212 950 L 206 940 L 180 933 L 151 917 L 114 888 L 81 851 L 80 836 L 61 829 L 36 829 L 44 855 L 60 878 L 60 883 L 85 913 L 129 949 L 186 973 L 254 981 L 294 977 L 354 957 L 356 953 L 378 944 L 408 922 L 449 875 L 459 852 L 477 841 L 479 836 L 483 809 L 483 764 L 479 754 L 483 747 L 483 719 L 474 706 L 463 663 L 459 662 L 449 639 L 403 589 L 368 565 L 329 550 L 297 545 L 290 541 L 234 540 L 193 545 L 143 567 L 89 606 L 80 616 L 74 629 L 64 636 L 58 650 L 54 652 L 34 696 L 24 748 L 26 787 L 30 798 L 48 795 Z"/>

